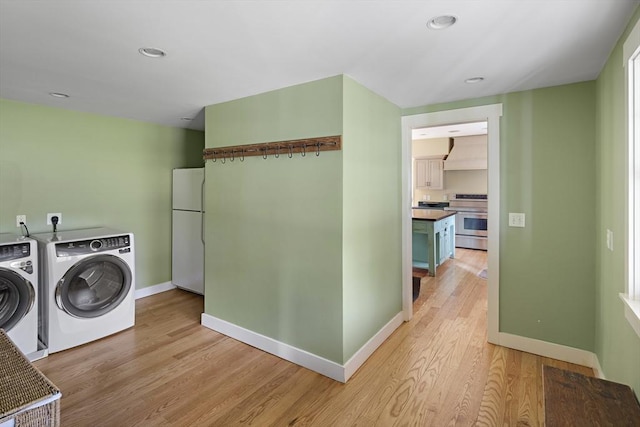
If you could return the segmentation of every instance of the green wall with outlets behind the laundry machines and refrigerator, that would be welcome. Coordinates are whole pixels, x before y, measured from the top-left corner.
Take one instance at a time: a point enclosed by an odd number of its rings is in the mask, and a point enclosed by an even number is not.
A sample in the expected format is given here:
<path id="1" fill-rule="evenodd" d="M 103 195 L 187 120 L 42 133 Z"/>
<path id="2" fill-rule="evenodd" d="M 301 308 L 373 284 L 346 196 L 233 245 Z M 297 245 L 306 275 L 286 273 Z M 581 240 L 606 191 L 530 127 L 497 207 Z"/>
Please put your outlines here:
<path id="1" fill-rule="evenodd" d="M 136 285 L 171 280 L 171 170 L 202 165 L 203 132 L 0 99 L 0 232 L 113 227 L 136 239 Z"/>

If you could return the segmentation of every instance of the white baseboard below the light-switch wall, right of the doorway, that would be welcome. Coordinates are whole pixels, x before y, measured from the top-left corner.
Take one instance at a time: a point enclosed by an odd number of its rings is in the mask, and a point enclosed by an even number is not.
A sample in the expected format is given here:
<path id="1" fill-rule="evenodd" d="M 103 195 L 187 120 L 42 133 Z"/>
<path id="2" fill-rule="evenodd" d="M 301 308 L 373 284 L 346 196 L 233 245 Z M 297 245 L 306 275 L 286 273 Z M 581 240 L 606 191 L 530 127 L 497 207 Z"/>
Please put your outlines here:
<path id="1" fill-rule="evenodd" d="M 551 359 L 562 360 L 563 362 L 574 363 L 576 365 L 587 366 L 594 370 L 599 378 L 604 378 L 604 373 L 600 367 L 598 356 L 587 350 L 541 341 L 534 338 L 521 337 L 505 332 L 498 333 L 498 342 L 494 344 L 515 350 L 526 351 L 538 356 L 549 357 Z"/>

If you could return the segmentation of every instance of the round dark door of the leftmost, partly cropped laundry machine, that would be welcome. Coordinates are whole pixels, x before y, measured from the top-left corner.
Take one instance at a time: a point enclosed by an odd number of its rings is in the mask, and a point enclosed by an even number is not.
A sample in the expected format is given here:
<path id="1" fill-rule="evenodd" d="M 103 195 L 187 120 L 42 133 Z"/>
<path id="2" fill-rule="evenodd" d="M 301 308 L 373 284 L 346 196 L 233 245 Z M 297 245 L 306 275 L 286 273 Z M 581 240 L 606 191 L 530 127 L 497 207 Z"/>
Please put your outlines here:
<path id="1" fill-rule="evenodd" d="M 0 268 L 0 328 L 9 332 L 29 313 L 34 301 L 30 281 L 15 271 Z"/>

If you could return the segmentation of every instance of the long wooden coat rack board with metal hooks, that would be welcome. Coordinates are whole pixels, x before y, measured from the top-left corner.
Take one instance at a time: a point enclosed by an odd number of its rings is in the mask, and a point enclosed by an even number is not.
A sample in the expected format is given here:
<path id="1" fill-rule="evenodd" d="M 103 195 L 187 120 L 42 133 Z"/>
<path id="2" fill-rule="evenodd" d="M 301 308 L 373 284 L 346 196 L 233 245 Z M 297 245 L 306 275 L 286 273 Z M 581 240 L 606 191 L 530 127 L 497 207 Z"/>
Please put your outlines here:
<path id="1" fill-rule="evenodd" d="M 301 156 L 307 154 L 320 155 L 321 151 L 342 150 L 342 136 L 321 136 L 318 138 L 294 139 L 290 141 L 264 142 L 262 144 L 230 145 L 227 147 L 205 148 L 203 151 L 204 160 L 214 162 L 220 160 L 225 163 L 227 160 L 235 159 L 244 161 L 245 157 L 262 156 L 266 159 L 269 156 L 278 158 L 287 156 L 292 158 L 294 154 Z"/>

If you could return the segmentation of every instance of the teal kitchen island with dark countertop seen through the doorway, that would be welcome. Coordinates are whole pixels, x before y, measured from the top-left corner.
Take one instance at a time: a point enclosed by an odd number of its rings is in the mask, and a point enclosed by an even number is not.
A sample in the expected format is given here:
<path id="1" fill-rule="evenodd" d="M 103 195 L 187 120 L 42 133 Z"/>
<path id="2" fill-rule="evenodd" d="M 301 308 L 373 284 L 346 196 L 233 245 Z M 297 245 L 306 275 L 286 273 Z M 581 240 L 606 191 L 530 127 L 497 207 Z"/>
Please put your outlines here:
<path id="1" fill-rule="evenodd" d="M 436 267 L 455 257 L 456 213 L 436 209 L 412 209 L 413 266 L 436 275 Z"/>

